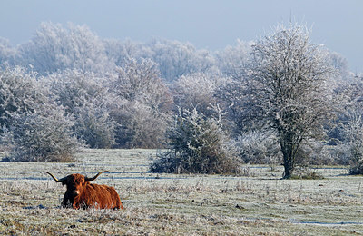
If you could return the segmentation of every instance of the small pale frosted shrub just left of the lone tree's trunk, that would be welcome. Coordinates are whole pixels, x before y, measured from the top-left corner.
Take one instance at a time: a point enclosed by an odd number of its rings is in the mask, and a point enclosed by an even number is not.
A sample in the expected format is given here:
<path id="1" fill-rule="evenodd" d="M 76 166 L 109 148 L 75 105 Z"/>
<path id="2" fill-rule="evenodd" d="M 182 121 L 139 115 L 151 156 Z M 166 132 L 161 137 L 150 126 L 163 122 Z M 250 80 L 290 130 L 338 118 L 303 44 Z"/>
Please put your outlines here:
<path id="1" fill-rule="evenodd" d="M 251 164 L 277 164 L 282 156 L 276 136 L 260 132 L 240 135 L 235 145 L 243 162 Z"/>

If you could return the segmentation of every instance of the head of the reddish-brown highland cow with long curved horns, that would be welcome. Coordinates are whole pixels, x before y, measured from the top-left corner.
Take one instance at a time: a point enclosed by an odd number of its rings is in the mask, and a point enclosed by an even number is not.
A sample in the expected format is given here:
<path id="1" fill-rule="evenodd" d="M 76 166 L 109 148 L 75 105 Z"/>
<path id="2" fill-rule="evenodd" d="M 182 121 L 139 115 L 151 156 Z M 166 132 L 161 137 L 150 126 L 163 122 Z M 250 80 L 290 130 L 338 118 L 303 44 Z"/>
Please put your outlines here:
<path id="1" fill-rule="evenodd" d="M 107 171 L 103 171 L 103 172 L 107 172 Z M 100 174 L 102 174 L 103 172 L 99 172 L 97 173 L 95 176 L 93 176 L 92 178 L 88 178 L 83 176 L 82 174 L 79 173 L 74 173 L 74 174 L 70 174 L 68 176 L 65 176 L 64 178 L 58 180 L 57 178 L 54 177 L 54 175 L 50 172 L 45 172 L 47 174 L 49 174 L 50 176 L 52 176 L 52 178 L 54 179 L 55 182 L 62 182 L 63 185 L 67 186 L 67 192 L 68 194 L 70 194 L 71 196 L 75 197 L 79 194 L 81 194 L 84 186 L 86 184 L 89 184 L 89 182 L 94 181 L 95 179 L 97 179 L 98 176 L 100 176 Z"/>

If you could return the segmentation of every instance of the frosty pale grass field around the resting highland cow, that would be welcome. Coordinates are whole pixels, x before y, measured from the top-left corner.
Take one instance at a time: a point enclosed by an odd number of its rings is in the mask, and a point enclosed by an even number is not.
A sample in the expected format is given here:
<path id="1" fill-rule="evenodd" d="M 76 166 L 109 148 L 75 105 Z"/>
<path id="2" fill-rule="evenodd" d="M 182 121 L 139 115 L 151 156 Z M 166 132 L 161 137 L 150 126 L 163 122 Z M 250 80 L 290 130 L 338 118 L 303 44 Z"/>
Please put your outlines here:
<path id="1" fill-rule="evenodd" d="M 0 233 L 16 235 L 363 235 L 363 177 L 315 169 L 323 180 L 280 180 L 282 168 L 244 176 L 148 172 L 155 150 L 86 150 L 74 163 L 0 162 Z M 56 177 L 103 173 L 124 210 L 60 209 Z"/>

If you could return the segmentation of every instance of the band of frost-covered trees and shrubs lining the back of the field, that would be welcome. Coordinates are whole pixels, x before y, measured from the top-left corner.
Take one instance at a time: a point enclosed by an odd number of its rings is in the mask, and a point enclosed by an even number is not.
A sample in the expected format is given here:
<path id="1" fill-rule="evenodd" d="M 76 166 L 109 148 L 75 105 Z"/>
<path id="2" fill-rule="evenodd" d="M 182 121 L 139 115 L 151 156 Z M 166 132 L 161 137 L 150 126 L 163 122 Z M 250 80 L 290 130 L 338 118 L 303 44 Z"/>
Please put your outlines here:
<path id="1" fill-rule="evenodd" d="M 243 162 L 281 163 L 277 133 L 247 115 L 255 106 L 245 82 L 256 75 L 262 43 L 237 40 L 211 52 L 164 39 L 103 39 L 87 26 L 52 23 L 15 47 L 2 38 L 0 123 L 7 159 L 66 161 L 79 146 L 167 148 L 172 125 L 186 112 L 221 124 L 218 131 Z M 324 50 L 335 70 L 325 85 L 341 106 L 321 123 L 319 139 L 301 142 L 297 162 L 348 164 L 352 135 L 360 135 L 348 123 L 360 125 L 362 76 L 350 73 L 340 54 Z"/>

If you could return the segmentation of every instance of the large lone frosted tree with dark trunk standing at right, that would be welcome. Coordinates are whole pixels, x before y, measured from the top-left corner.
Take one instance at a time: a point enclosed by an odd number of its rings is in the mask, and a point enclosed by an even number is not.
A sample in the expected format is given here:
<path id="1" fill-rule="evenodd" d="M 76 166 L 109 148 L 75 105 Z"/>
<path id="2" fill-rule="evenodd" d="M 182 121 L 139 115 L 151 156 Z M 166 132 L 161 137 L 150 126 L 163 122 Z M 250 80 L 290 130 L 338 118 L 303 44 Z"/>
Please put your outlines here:
<path id="1" fill-rule="evenodd" d="M 300 144 L 321 133 L 331 113 L 327 52 L 311 44 L 305 25 L 280 25 L 252 46 L 252 64 L 245 80 L 249 118 L 277 133 L 290 178 Z"/>

